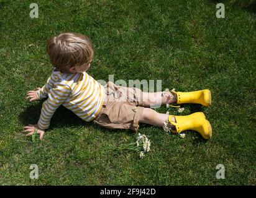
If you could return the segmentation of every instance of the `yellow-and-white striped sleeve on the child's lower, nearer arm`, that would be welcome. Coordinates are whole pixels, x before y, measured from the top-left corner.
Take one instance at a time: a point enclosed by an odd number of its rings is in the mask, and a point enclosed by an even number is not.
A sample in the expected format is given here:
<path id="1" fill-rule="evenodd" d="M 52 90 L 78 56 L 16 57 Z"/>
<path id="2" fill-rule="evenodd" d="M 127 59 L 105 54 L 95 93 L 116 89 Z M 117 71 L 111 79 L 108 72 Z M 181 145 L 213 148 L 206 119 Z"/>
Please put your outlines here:
<path id="1" fill-rule="evenodd" d="M 62 105 L 71 93 L 71 88 L 62 83 L 55 84 L 55 88 L 51 88 L 48 93 L 48 98 L 43 102 L 38 126 L 40 129 L 48 129 L 50 126 L 50 119 L 55 110 Z"/>

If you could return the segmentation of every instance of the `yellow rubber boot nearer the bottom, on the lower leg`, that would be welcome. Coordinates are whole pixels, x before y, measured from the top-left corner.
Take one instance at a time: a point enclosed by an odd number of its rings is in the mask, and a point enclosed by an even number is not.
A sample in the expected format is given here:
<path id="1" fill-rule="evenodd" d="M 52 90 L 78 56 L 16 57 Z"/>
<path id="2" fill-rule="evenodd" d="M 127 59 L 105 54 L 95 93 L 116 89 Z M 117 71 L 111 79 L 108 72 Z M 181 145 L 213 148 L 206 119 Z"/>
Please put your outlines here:
<path id="1" fill-rule="evenodd" d="M 176 123 L 172 121 L 172 117 L 176 119 Z M 188 116 L 169 116 L 168 121 L 176 128 L 176 132 L 193 130 L 199 132 L 204 139 L 210 139 L 212 136 L 212 128 L 203 112 L 192 113 Z"/>

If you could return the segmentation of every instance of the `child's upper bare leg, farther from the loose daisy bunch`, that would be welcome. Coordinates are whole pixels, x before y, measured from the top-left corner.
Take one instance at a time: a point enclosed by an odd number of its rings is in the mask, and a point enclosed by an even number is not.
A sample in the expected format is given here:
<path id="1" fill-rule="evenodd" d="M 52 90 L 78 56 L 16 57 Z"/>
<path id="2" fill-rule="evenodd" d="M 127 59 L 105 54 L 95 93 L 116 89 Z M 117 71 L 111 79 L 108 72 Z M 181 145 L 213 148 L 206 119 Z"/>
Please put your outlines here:
<path id="1" fill-rule="evenodd" d="M 144 106 L 176 103 L 176 94 L 171 92 L 143 92 Z"/>

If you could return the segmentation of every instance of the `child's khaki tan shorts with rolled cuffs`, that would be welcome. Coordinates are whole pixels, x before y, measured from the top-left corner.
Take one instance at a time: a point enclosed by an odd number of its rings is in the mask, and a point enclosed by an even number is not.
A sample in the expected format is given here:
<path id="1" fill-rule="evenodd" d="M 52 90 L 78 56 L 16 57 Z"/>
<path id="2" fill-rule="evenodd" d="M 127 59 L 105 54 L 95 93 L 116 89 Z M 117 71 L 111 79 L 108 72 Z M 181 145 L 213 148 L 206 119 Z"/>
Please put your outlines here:
<path id="1" fill-rule="evenodd" d="M 144 110 L 142 90 L 117 86 L 113 82 L 104 85 L 103 108 L 93 122 L 109 129 L 131 129 L 137 131 Z"/>

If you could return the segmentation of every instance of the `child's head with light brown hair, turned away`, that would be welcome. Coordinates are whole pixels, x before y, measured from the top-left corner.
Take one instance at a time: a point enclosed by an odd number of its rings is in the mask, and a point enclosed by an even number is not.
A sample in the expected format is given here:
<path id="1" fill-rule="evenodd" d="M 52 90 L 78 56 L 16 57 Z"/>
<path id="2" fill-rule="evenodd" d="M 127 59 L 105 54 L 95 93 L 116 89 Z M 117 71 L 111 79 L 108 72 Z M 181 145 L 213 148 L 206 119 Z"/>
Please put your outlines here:
<path id="1" fill-rule="evenodd" d="M 94 56 L 91 41 L 78 33 L 61 33 L 47 41 L 47 53 L 52 65 L 63 73 L 84 72 Z"/>

